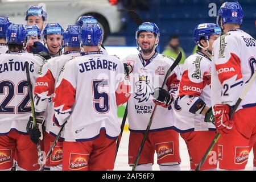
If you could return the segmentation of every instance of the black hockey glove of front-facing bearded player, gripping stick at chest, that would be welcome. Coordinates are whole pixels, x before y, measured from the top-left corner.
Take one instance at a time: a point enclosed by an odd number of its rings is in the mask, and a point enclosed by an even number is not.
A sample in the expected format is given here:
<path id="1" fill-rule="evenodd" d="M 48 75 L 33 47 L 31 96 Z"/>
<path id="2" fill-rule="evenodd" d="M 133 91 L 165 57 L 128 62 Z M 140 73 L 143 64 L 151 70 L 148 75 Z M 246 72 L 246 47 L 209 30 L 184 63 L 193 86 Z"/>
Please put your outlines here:
<path id="1" fill-rule="evenodd" d="M 160 105 L 163 107 L 169 107 L 172 104 L 172 101 L 174 100 L 174 97 L 172 97 L 172 94 L 167 92 L 167 90 L 164 90 L 160 87 L 155 88 L 154 93 L 152 93 L 152 96 L 155 98 L 153 102 L 156 105 Z"/>

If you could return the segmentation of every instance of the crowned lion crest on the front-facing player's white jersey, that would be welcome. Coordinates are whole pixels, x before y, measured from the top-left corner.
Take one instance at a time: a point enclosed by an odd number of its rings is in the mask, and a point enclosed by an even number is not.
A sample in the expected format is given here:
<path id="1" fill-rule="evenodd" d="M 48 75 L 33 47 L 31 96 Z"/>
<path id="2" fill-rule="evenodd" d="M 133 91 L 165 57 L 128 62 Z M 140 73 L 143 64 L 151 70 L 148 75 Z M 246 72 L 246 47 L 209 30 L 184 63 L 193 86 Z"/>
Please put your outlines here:
<path id="1" fill-rule="evenodd" d="M 147 76 L 144 75 L 139 76 L 139 81 L 135 82 L 137 90 L 135 91 L 136 96 L 134 98 L 139 100 L 138 102 L 147 102 L 153 93 L 150 85 L 148 85 L 149 83 L 150 80 L 147 80 Z"/>

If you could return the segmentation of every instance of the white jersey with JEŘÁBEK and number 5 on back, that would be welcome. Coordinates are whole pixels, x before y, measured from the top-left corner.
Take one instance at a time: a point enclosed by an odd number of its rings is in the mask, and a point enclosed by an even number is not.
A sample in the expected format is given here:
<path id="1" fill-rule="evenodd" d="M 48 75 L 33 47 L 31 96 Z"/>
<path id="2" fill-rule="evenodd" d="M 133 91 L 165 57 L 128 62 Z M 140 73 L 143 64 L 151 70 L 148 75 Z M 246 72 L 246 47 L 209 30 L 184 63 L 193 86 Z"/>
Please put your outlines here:
<path id="1" fill-rule="evenodd" d="M 65 140 L 90 140 L 101 129 L 109 137 L 117 137 L 117 106 L 128 100 L 129 89 L 130 82 L 117 57 L 89 52 L 66 63 L 53 98 L 55 121 L 63 125 L 67 120 Z"/>

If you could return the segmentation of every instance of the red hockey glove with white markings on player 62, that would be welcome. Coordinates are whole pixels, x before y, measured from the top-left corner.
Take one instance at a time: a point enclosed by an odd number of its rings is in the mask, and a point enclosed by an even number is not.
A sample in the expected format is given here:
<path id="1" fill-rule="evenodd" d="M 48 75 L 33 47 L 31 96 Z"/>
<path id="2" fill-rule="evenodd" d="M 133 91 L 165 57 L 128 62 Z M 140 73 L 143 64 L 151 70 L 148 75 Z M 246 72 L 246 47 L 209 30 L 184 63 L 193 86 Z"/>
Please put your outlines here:
<path id="1" fill-rule="evenodd" d="M 233 128 L 233 121 L 229 119 L 230 108 L 227 104 L 216 104 L 213 106 L 215 115 L 215 126 L 220 134 L 228 134 Z"/>

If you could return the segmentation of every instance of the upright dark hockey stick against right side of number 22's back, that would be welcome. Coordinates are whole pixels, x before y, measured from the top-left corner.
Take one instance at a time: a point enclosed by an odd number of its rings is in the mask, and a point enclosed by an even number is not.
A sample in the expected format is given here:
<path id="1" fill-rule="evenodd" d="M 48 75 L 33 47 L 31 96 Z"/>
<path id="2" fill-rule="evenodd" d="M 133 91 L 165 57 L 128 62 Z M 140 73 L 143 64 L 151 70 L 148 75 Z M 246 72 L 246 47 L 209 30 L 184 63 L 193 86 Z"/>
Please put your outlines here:
<path id="1" fill-rule="evenodd" d="M 26 61 L 25 62 L 25 69 L 26 69 L 26 75 L 27 75 L 28 94 L 30 96 L 31 112 L 32 112 L 32 117 L 33 117 L 33 127 L 36 127 L 35 105 L 34 105 L 33 94 L 32 94 L 30 71 L 29 71 L 28 67 L 29 67 L 29 64 Z M 39 140 L 38 140 L 38 143 L 36 143 L 36 148 L 38 148 L 38 163 L 41 166 L 42 162 L 43 162 L 43 152 L 41 150 Z"/>

